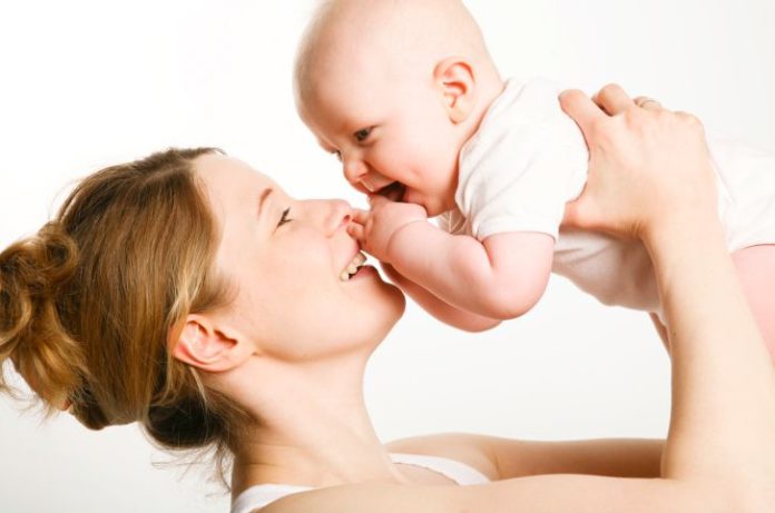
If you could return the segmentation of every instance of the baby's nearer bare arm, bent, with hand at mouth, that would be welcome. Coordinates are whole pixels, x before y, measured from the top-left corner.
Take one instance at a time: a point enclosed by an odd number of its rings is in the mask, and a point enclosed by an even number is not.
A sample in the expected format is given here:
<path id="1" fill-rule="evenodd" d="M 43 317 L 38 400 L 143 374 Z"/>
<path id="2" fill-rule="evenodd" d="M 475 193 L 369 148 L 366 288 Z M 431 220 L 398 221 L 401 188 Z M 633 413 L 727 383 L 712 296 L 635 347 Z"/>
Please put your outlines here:
<path id="1" fill-rule="evenodd" d="M 506 233 L 480 243 L 450 235 L 419 214 L 422 207 L 371 198 L 352 233 L 362 247 L 444 303 L 507 319 L 530 310 L 551 272 L 555 240 L 538 233 Z M 419 210 L 418 210 L 419 209 Z"/>

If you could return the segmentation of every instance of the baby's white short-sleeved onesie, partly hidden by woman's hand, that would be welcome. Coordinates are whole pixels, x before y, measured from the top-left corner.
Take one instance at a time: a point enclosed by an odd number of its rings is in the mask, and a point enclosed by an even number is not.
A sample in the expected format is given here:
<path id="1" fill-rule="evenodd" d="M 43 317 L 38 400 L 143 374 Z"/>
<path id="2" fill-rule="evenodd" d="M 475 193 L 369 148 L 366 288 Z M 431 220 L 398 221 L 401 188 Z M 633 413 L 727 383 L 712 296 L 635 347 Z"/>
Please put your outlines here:
<path id="1" fill-rule="evenodd" d="M 440 218 L 453 234 L 537 231 L 556 239 L 552 270 L 601 303 L 660 313 L 651 262 L 640 243 L 560 230 L 566 203 L 587 180 L 589 155 L 560 108 L 560 88 L 509 80 L 460 152 L 457 210 Z M 775 157 L 709 137 L 718 209 L 730 251 L 775 243 Z M 659 198 L 654 198 L 658 201 Z"/>

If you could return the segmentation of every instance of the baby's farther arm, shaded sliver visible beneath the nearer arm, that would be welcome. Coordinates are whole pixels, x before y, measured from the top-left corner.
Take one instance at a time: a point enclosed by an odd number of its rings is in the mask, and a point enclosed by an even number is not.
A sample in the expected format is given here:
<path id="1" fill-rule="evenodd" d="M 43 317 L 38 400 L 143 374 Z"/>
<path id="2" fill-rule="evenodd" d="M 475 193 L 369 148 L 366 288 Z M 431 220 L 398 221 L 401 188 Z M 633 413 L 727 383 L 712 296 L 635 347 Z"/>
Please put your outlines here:
<path id="1" fill-rule="evenodd" d="M 382 269 L 385 272 L 391 282 L 398 285 L 406 295 L 414 299 L 414 302 L 425 312 L 444 324 L 449 324 L 450 326 L 454 326 L 459 329 L 464 329 L 465 332 L 484 332 L 500 324 L 500 319 L 493 319 L 473 314 L 439 299 L 422 286 L 418 285 L 411 279 L 408 279 L 405 276 L 402 276 L 390 264 L 382 263 Z"/>

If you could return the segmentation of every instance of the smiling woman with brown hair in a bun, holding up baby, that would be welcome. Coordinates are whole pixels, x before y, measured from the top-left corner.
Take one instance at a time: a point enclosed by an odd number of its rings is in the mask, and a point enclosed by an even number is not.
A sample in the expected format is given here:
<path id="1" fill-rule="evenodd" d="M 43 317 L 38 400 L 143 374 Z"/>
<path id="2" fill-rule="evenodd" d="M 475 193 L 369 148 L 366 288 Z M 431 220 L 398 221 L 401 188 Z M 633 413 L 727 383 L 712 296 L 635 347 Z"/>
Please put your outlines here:
<path id="1" fill-rule="evenodd" d="M 295 200 L 207 149 L 94 175 L 0 255 L 0 357 L 89 427 L 138 421 L 169 447 L 232 453 L 237 512 L 772 511 L 774 376 L 698 164 L 702 129 L 617 88 L 598 100 L 612 117 L 562 99 L 592 152 L 569 221 L 651 251 L 674 357 L 664 451 L 471 435 L 382 445 L 362 377 L 403 297 L 357 268 L 346 204 Z M 641 199 L 655 195 L 660 209 Z"/>

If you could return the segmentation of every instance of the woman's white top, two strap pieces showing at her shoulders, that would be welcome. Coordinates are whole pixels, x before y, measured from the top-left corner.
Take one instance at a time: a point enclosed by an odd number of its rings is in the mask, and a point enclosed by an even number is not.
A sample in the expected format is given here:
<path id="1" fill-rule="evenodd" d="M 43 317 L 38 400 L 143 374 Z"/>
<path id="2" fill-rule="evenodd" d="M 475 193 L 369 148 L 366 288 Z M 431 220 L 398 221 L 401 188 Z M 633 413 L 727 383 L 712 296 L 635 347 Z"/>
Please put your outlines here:
<path id="1" fill-rule="evenodd" d="M 459 485 L 489 483 L 484 474 L 464 463 L 438 456 L 423 456 L 420 454 L 391 454 L 393 463 L 421 466 L 438 472 L 449 477 Z M 300 492 L 313 490 L 312 486 L 297 486 L 292 484 L 258 484 L 251 486 L 241 493 L 232 503 L 232 513 L 249 513 L 259 510 L 267 504 Z"/>

